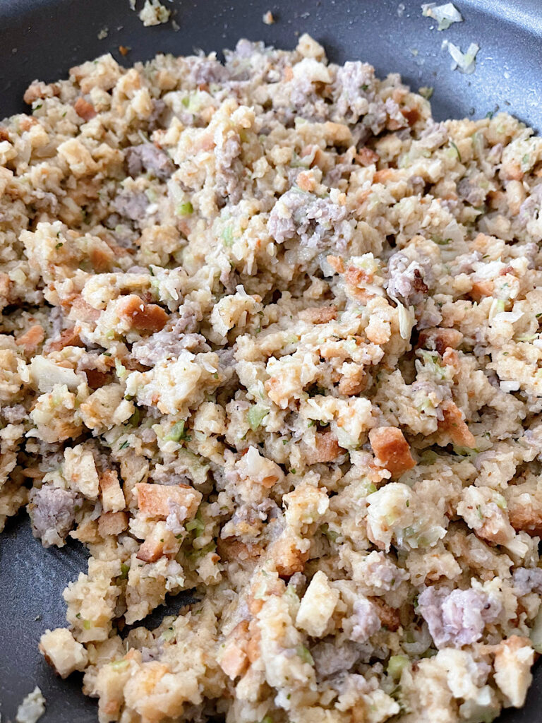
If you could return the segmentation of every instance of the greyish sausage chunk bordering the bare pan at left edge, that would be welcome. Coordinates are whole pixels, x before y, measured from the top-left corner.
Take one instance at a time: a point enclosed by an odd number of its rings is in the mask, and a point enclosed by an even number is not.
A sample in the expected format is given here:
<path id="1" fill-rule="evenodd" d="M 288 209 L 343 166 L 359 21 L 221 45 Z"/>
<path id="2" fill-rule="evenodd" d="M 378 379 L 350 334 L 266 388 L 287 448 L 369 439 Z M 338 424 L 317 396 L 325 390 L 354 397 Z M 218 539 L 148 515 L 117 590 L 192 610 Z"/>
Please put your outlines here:
<path id="1" fill-rule="evenodd" d="M 61 547 L 75 521 L 77 494 L 61 487 L 44 484 L 30 492 L 28 512 L 35 537 L 41 538 L 43 547 Z"/>

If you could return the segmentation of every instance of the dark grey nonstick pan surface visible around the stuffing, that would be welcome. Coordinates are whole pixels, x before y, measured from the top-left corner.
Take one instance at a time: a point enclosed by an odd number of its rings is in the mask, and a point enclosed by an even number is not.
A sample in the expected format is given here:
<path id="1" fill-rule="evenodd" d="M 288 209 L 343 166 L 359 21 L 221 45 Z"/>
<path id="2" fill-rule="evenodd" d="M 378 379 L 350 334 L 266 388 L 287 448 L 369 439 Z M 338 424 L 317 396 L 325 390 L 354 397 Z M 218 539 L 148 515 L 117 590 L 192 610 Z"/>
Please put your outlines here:
<path id="1" fill-rule="evenodd" d="M 57 80 L 72 65 L 106 52 L 133 64 L 158 52 L 220 51 L 240 37 L 292 48 L 298 35 L 308 32 L 333 61 L 363 59 L 381 76 L 400 72 L 413 90 L 434 87 L 437 119 L 479 117 L 500 108 L 541 131 L 540 0 L 456 0 L 455 5 L 465 22 L 439 33 L 434 21 L 422 17 L 420 0 L 172 0 L 168 7 L 178 30 L 171 22 L 143 27 L 128 0 L 1 0 L 0 118 L 25 110 L 22 94 L 35 78 Z M 273 25 L 262 22 L 267 10 L 276 19 Z M 100 33 L 104 29 L 107 34 Z M 106 37 L 100 40 L 98 34 Z M 443 39 L 463 50 L 478 43 L 474 74 L 452 71 Z M 126 59 L 120 45 L 132 48 Z M 0 546 L 3 721 L 14 720 L 17 705 L 35 685 L 47 699 L 40 723 L 97 720 L 95 703 L 80 692 L 80 677 L 57 679 L 37 649 L 43 630 L 64 625 L 61 591 L 85 568 L 82 547 L 43 549 L 24 514 L 8 523 Z M 173 599 L 169 611 L 184 601 Z M 164 613 L 164 607 L 155 612 L 154 625 Z M 525 708 L 506 711 L 499 721 L 541 722 L 541 695 L 538 666 Z"/>

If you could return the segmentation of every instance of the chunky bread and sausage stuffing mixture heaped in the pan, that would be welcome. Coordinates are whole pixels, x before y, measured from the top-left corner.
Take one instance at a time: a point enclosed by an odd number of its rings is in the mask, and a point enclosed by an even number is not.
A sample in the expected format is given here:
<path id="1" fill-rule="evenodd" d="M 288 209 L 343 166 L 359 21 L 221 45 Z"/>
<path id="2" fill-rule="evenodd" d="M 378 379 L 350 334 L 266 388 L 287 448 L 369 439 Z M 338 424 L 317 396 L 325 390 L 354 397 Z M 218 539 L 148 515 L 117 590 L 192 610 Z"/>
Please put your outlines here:
<path id="1" fill-rule="evenodd" d="M 1 521 L 90 551 L 43 656 L 100 723 L 522 706 L 542 139 L 436 123 L 307 35 L 106 55 L 25 100 L 0 124 Z"/>

